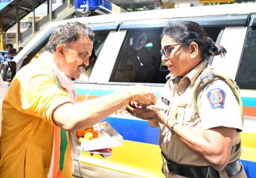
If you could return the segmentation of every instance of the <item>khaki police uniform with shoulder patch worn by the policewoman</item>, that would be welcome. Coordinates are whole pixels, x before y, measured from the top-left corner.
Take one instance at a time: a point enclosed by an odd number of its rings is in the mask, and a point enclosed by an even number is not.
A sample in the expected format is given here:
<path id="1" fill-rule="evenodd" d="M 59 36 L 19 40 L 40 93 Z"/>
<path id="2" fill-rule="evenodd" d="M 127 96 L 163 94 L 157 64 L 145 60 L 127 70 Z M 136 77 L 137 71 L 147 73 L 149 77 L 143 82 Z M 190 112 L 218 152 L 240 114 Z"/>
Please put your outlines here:
<path id="1" fill-rule="evenodd" d="M 201 87 L 197 92 L 200 117 L 193 104 L 195 83 L 200 81 L 200 75 L 208 71 L 210 69 L 207 68 L 207 61 L 203 60 L 183 78 L 169 75 L 170 79 L 164 87 L 158 105 L 169 117 L 176 118 L 181 126 L 197 132 L 197 134 L 203 135 L 204 130 L 218 126 L 237 128 L 238 132 L 236 132 L 232 142 L 232 151 L 228 161 L 228 163 L 232 163 L 241 156 L 240 131 L 243 129 L 240 106 L 232 89 L 221 79 Z M 223 108 L 212 106 L 214 101 L 211 101 L 211 92 L 216 92 L 216 90 L 220 91 L 219 96 L 222 96 L 222 98 L 216 99 L 217 105 L 223 106 Z M 182 165 L 208 166 L 205 161 L 185 146 L 175 134 L 172 135 L 168 132 L 168 128 L 163 128 L 163 124 L 159 124 L 159 127 L 159 144 L 166 159 Z M 181 177 L 168 173 L 165 167 L 163 171 L 166 177 Z M 221 178 L 228 177 L 224 170 L 219 171 L 219 173 Z M 235 177 L 246 177 L 243 167 L 241 173 L 238 173 Z"/>

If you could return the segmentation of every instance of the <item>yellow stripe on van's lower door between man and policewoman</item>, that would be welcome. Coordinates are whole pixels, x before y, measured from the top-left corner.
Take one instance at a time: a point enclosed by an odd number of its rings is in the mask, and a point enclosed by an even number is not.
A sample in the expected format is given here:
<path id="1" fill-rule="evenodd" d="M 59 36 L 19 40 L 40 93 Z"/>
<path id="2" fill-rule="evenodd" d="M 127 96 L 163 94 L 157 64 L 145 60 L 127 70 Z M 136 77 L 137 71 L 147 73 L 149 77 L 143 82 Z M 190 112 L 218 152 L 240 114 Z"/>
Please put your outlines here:
<path id="1" fill-rule="evenodd" d="M 113 157 L 108 159 L 98 154 L 92 157 L 88 152 L 81 152 L 80 162 L 139 177 L 164 178 L 158 145 L 123 140 L 123 146 L 112 149 Z"/>

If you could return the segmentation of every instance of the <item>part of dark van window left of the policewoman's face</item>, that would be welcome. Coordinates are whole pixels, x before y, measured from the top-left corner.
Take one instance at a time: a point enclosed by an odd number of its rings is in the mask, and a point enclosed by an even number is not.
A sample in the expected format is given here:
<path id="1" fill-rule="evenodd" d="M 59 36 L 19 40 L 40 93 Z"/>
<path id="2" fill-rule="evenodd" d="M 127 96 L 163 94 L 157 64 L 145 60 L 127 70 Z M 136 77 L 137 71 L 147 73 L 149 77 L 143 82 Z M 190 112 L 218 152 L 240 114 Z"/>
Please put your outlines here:
<path id="1" fill-rule="evenodd" d="M 160 64 L 160 33 L 161 30 L 127 32 L 114 82 L 154 83 L 154 73 Z"/>

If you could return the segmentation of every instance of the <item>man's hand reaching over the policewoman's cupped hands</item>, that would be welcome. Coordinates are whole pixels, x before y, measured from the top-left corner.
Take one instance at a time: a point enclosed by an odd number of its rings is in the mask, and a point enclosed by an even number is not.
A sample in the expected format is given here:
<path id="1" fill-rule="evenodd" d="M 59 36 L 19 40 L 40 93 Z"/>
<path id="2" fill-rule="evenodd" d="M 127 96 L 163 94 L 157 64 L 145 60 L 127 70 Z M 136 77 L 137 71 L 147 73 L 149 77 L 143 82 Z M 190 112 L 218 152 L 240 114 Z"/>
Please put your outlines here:
<path id="1" fill-rule="evenodd" d="M 129 93 L 130 101 L 136 101 L 141 105 L 156 104 L 156 96 L 152 92 L 151 87 L 141 85 L 131 85 L 127 87 L 127 93 Z"/>

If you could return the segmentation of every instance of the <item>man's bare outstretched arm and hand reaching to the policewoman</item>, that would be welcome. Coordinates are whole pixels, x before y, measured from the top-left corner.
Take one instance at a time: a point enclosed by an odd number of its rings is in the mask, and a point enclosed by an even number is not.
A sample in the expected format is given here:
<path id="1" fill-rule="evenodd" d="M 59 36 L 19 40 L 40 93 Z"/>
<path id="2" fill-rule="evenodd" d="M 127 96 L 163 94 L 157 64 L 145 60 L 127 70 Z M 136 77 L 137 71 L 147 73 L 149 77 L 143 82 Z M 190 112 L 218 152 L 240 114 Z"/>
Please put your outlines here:
<path id="1" fill-rule="evenodd" d="M 73 132 L 100 122 L 129 101 L 149 105 L 156 103 L 156 97 L 150 87 L 131 86 L 97 99 L 76 104 L 64 103 L 53 112 L 53 122 L 68 132 Z"/>

